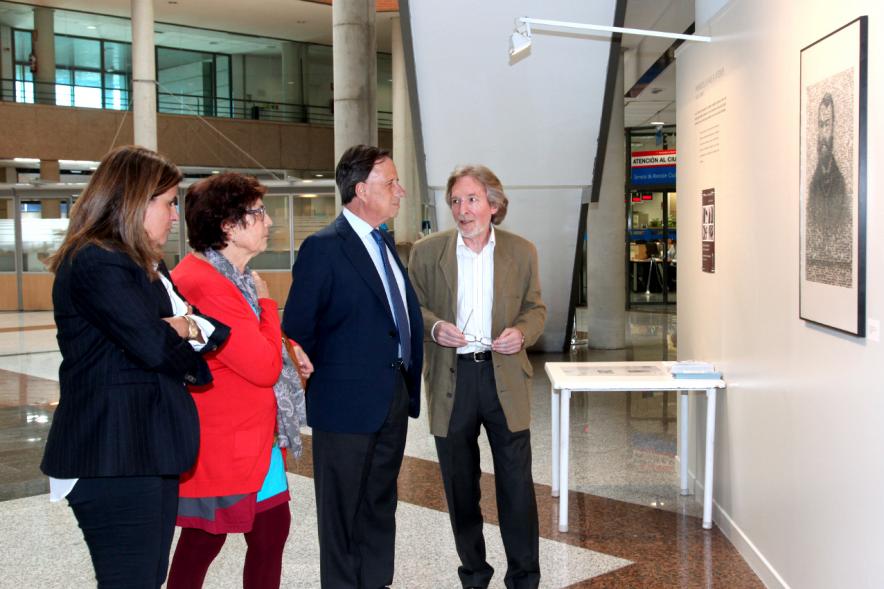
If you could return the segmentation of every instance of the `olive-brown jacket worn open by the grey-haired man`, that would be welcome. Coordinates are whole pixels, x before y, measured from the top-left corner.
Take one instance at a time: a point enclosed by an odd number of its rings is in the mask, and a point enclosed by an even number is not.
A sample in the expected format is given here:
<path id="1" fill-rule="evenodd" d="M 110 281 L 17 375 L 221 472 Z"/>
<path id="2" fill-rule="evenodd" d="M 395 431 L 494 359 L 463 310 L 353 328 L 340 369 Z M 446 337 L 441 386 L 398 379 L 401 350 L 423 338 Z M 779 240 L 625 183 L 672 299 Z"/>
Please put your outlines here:
<path id="1" fill-rule="evenodd" d="M 491 336 L 516 327 L 525 336 L 517 354 L 492 353 L 497 396 L 510 431 L 528 429 L 531 423 L 531 376 L 525 349 L 543 333 L 546 305 L 540 298 L 537 250 L 526 239 L 495 228 L 494 304 Z M 455 323 L 457 317 L 457 231 L 443 231 L 421 239 L 408 262 L 411 281 L 423 311 L 426 331 L 427 405 L 430 431 L 448 435 L 457 383 L 456 348 L 436 344 L 430 330 L 437 321 Z"/>

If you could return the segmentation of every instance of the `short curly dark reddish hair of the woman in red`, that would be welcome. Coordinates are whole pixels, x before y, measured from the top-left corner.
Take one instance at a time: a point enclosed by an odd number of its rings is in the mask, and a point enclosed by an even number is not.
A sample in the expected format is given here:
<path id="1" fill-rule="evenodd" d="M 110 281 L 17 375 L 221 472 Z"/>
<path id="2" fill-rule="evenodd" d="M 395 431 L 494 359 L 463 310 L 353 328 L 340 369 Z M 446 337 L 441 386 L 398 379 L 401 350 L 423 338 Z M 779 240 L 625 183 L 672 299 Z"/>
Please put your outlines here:
<path id="1" fill-rule="evenodd" d="M 224 225 L 246 224 L 246 212 L 267 189 L 252 176 L 228 172 L 200 180 L 187 189 L 184 220 L 187 242 L 194 250 L 227 247 Z"/>

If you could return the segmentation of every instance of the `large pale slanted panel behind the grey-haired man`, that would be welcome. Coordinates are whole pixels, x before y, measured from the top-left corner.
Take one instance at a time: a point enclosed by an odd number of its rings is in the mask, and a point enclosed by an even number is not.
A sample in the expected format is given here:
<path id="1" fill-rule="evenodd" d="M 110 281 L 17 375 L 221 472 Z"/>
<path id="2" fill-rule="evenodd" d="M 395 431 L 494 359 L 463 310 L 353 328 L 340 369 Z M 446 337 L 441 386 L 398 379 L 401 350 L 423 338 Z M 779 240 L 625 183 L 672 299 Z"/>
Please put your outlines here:
<path id="1" fill-rule="evenodd" d="M 453 226 L 445 183 L 458 164 L 490 167 L 510 210 L 502 228 L 535 243 L 549 307 L 539 347 L 564 342 L 580 202 L 592 183 L 610 35 L 534 28 L 510 61 L 520 16 L 612 24 L 614 0 L 408 2 L 427 183 L 440 229 Z"/>

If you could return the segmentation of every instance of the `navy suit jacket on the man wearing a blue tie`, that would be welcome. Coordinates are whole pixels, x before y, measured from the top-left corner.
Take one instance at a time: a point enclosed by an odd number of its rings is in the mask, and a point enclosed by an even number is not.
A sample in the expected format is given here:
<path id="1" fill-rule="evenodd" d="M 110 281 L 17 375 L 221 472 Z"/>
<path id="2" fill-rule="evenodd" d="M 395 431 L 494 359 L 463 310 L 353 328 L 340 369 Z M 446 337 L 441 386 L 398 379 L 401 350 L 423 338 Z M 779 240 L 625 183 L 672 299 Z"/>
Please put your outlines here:
<path id="1" fill-rule="evenodd" d="M 420 412 L 420 306 L 390 236 L 384 240 L 405 280 L 412 361 L 409 414 Z M 343 216 L 304 240 L 292 268 L 282 329 L 313 362 L 307 422 L 329 432 L 378 431 L 390 409 L 399 342 L 384 285 L 362 240 Z"/>

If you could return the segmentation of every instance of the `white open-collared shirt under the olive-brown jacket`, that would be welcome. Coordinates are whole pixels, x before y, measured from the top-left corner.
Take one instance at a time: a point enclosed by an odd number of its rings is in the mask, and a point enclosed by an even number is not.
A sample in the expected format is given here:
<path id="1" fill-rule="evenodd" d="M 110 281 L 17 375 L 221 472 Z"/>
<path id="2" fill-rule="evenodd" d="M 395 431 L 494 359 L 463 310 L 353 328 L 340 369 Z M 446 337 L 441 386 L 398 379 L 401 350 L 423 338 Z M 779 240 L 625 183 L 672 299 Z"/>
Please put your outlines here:
<path id="1" fill-rule="evenodd" d="M 491 349 L 491 308 L 494 305 L 494 227 L 488 243 L 474 252 L 457 234 L 457 327 L 477 340 L 457 349 L 458 354 Z"/>

